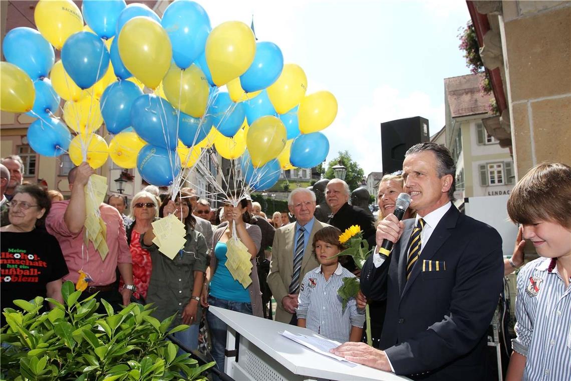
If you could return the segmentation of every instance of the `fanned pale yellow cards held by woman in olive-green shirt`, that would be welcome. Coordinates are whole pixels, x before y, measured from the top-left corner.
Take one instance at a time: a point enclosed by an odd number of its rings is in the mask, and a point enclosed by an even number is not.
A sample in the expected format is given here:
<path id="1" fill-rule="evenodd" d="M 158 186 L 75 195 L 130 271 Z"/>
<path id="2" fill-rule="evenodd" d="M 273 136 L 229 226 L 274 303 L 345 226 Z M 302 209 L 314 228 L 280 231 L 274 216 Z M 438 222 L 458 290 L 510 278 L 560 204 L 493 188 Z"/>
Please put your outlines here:
<path id="1" fill-rule="evenodd" d="M 159 247 L 159 251 L 170 259 L 174 259 L 176 254 L 184 248 L 186 239 L 186 229 L 174 214 L 152 223 L 152 232 L 155 238 L 152 243 Z"/>

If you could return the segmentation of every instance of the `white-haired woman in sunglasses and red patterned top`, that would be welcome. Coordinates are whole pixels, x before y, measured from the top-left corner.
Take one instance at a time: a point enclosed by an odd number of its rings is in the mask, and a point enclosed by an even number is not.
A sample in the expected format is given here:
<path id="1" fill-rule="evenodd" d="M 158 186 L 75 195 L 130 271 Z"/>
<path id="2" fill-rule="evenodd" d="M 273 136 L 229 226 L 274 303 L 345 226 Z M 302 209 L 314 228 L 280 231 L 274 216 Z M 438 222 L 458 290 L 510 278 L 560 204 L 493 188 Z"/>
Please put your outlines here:
<path id="1" fill-rule="evenodd" d="M 151 254 L 140 244 L 140 236 L 151 227 L 151 222 L 158 215 L 156 197 L 147 192 L 138 192 L 131 201 L 131 213 L 128 219 L 132 220 L 125 227 L 127 244 L 131 251 L 133 261 L 133 284 L 135 290 L 133 297 L 140 303 L 147 299 L 148 282 L 151 280 L 152 262 Z M 119 282 L 119 290 L 123 287 L 123 279 Z"/>

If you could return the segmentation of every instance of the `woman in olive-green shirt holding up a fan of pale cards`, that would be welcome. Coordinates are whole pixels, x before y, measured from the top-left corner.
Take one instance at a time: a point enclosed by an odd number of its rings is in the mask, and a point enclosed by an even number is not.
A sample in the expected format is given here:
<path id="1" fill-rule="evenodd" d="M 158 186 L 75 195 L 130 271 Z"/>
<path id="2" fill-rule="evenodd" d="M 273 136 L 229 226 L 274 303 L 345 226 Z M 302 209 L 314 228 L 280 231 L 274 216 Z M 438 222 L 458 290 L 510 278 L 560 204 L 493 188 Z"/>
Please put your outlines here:
<path id="1" fill-rule="evenodd" d="M 154 303 L 152 316 L 164 320 L 176 315 L 171 327 L 190 325 L 174 336 L 192 350 L 198 348 L 198 323 L 202 315 L 199 306 L 200 293 L 204 283 L 208 254 L 206 239 L 195 230 L 196 220 L 192 216 L 190 195 L 180 192 L 174 201 L 164 199 L 159 207 L 159 217 L 174 214 L 186 226 L 186 243 L 174 259 L 168 258 L 152 243 L 155 234 L 152 226 L 141 236 L 141 244 L 151 253 L 152 273 L 148 286 L 147 303 Z M 179 350 L 179 354 L 182 353 Z"/>

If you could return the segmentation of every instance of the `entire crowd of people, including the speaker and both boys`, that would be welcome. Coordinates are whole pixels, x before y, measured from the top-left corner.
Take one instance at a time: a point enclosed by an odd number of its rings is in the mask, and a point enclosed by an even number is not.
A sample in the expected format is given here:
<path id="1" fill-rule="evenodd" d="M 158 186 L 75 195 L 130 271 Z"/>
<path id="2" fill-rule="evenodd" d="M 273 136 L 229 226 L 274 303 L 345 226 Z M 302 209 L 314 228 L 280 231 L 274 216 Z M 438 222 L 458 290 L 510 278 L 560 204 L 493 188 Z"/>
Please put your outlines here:
<path id="1" fill-rule="evenodd" d="M 171 199 L 148 186 L 128 211 L 123 195 L 110 194 L 99 206 L 106 255 L 84 240 L 84 189 L 93 169 L 82 163 L 70 171 L 67 200 L 22 185 L 22 169 L 19 157 L 2 159 L 2 309 L 38 295 L 61 302 L 62 281 L 71 280 L 82 298 L 96 294 L 115 310 L 153 303 L 156 318 L 175 315 L 173 326 L 189 326 L 176 339 L 210 352 L 220 370 L 226 324 L 209 306 L 307 327 L 343 343 L 332 350 L 339 356 L 412 379 L 482 380 L 490 377 L 486 330 L 502 278 L 521 267 L 507 379 L 571 379 L 569 166 L 538 165 L 512 190 L 508 214 L 520 228 L 509 259 L 494 228 L 453 204 L 456 167 L 434 143 L 413 146 L 403 170 L 384 175 L 376 220 L 340 179 L 293 190 L 288 210 L 271 218 L 238 193 L 216 210 L 193 189 Z M 393 214 L 401 192 L 411 196 L 403 220 Z M 172 259 L 153 243 L 151 224 L 170 214 L 186 228 L 184 247 Z M 355 225 L 373 248 L 362 270 L 350 256 L 337 256 L 345 248 L 341 233 Z M 251 255 L 246 288 L 225 266 L 232 239 Z M 384 240 L 393 243 L 390 251 L 379 250 Z M 525 240 L 540 258 L 522 267 Z M 355 277 L 359 294 L 344 306 L 337 290 Z M 363 335 L 367 304 L 372 346 Z M 101 302 L 98 312 L 105 311 Z"/>

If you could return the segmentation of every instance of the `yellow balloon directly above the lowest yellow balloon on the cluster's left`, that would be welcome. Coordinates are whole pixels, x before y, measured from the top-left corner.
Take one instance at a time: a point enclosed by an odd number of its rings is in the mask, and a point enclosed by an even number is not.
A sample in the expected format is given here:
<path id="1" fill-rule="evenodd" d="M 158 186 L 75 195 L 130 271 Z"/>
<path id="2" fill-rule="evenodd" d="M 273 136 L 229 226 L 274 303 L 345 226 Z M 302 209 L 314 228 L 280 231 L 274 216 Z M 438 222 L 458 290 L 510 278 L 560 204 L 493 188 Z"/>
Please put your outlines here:
<path id="1" fill-rule="evenodd" d="M 63 105 L 63 120 L 76 133 L 88 135 L 103 124 L 99 100 L 83 98 L 79 102 L 67 101 Z"/>

